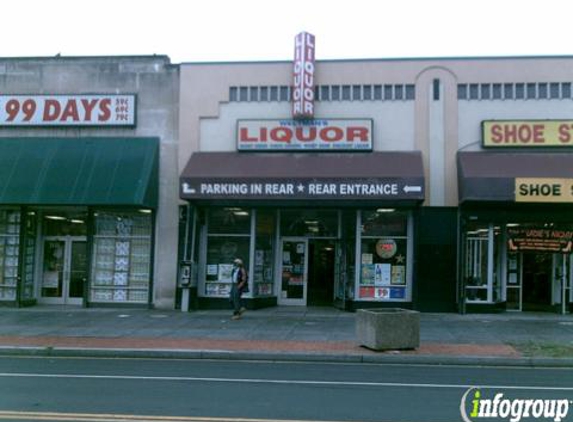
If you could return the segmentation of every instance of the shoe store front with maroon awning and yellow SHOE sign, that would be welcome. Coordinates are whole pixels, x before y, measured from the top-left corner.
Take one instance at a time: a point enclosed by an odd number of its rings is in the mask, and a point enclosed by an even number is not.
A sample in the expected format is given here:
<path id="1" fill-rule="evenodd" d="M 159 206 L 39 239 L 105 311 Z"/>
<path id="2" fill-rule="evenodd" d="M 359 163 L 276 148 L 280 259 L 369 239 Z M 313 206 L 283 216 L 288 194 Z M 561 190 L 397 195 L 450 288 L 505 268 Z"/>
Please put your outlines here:
<path id="1" fill-rule="evenodd" d="M 543 127 L 547 143 L 553 123 L 502 125 Z M 520 148 L 458 153 L 465 306 L 566 313 L 573 302 L 573 154 Z"/>

